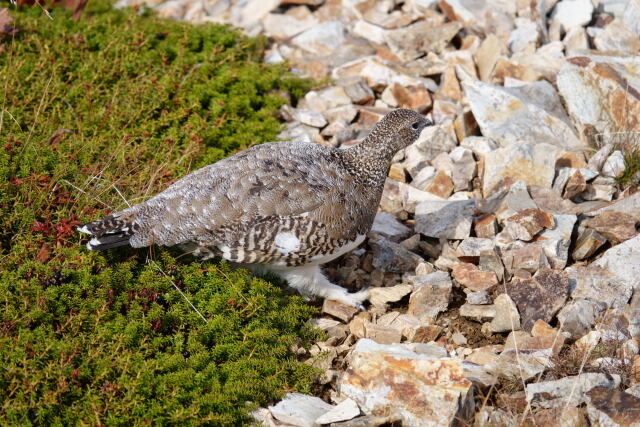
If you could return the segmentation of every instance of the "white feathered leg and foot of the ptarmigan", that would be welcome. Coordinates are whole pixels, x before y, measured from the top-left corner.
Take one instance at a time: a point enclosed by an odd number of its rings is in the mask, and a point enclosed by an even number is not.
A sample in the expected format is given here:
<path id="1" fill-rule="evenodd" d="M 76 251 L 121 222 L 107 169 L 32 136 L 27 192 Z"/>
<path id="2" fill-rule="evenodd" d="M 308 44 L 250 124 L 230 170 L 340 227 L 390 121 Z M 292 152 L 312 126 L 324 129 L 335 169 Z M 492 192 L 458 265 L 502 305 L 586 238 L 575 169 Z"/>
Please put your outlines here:
<path id="1" fill-rule="evenodd" d="M 331 283 L 317 265 L 274 270 L 305 297 L 322 297 L 340 301 L 344 304 L 362 308 L 362 302 L 369 298 L 369 291 L 349 293 L 345 288 Z"/>

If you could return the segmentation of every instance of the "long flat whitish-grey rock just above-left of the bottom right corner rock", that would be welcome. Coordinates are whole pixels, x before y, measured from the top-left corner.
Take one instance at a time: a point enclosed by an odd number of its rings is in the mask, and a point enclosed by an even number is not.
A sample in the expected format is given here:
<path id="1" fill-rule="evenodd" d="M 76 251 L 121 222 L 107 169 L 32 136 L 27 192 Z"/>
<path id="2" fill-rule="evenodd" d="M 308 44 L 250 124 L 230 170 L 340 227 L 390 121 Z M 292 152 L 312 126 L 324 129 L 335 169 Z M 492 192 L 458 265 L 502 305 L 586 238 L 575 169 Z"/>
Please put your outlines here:
<path id="1" fill-rule="evenodd" d="M 575 407 L 585 403 L 585 395 L 594 387 L 613 389 L 620 384 L 618 375 L 583 373 L 555 381 L 541 381 L 527 384 L 527 401 L 534 407 L 559 408 Z"/>

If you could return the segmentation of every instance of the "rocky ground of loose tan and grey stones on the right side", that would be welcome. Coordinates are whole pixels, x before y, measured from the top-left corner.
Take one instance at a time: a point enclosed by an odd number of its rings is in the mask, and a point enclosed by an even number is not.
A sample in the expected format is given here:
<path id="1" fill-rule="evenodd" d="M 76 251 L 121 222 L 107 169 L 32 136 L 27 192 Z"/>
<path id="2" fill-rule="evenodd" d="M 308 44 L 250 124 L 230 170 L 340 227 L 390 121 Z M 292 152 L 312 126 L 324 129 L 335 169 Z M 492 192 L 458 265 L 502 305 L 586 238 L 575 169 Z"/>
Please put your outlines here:
<path id="1" fill-rule="evenodd" d="M 347 147 L 397 107 L 436 123 L 327 268 L 370 306 L 324 301 L 328 339 L 294 349 L 317 396 L 265 425 L 640 425 L 639 0 L 144 3 L 329 77 L 283 138 Z"/>

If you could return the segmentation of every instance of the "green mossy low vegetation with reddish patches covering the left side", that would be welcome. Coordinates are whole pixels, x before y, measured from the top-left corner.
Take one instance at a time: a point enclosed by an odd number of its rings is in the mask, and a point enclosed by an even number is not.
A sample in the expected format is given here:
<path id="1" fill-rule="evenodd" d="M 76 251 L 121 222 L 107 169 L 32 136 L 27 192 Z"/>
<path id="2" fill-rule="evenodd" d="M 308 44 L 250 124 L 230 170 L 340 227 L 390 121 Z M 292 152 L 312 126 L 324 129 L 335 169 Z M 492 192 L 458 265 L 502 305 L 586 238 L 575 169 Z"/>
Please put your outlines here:
<path id="1" fill-rule="evenodd" d="M 228 27 L 102 0 L 78 22 L 9 7 L 20 31 L 0 36 L 0 424 L 240 425 L 252 405 L 308 391 L 314 372 L 288 350 L 316 333 L 301 298 L 179 253 L 89 252 L 74 230 L 273 140 L 281 94 L 308 82 L 261 64 L 264 41 Z"/>

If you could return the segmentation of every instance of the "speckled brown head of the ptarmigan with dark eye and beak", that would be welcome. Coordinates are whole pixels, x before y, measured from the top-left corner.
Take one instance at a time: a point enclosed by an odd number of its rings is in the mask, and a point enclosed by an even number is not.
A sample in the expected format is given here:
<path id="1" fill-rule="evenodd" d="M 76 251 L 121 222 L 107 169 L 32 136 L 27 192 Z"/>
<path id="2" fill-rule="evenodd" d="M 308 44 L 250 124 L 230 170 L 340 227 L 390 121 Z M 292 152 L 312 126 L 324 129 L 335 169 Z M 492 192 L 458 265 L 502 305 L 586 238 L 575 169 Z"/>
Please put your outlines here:
<path id="1" fill-rule="evenodd" d="M 381 152 L 393 156 L 413 144 L 422 130 L 431 125 L 433 122 L 413 110 L 397 109 L 378 122 L 367 140 Z"/>

